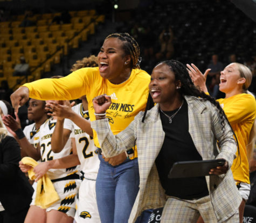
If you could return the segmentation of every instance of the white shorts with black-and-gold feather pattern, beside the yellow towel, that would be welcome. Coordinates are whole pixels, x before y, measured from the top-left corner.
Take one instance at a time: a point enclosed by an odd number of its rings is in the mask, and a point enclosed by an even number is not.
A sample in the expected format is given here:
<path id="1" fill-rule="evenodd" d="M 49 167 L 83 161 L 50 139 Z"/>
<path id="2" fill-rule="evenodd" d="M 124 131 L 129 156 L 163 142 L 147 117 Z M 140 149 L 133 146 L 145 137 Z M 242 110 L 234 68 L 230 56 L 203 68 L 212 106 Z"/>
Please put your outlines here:
<path id="1" fill-rule="evenodd" d="M 64 212 L 74 218 L 75 204 L 77 203 L 77 192 L 81 184 L 81 179 L 66 179 L 63 181 L 53 182 L 53 186 L 58 193 L 60 200 L 46 208 L 46 211 L 57 210 Z M 34 205 L 36 198 L 37 183 L 33 184 L 34 193 L 30 205 Z"/>

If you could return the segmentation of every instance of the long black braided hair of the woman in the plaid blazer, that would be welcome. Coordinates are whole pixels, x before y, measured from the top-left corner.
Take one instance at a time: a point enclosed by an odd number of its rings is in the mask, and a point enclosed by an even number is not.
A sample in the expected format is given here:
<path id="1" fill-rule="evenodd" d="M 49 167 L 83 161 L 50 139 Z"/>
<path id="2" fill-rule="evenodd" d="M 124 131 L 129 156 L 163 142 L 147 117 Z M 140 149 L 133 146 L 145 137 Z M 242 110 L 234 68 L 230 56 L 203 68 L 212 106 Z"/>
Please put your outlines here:
<path id="1" fill-rule="evenodd" d="M 181 95 L 195 96 L 195 97 L 198 97 L 198 98 L 202 98 L 204 100 L 209 100 L 219 110 L 220 119 L 222 119 L 222 121 L 221 121 L 222 131 L 224 132 L 224 130 L 225 130 L 225 121 L 227 121 L 227 123 L 231 127 L 231 125 L 229 123 L 229 120 L 227 120 L 226 114 L 224 113 L 222 107 L 220 107 L 219 103 L 216 102 L 216 100 L 214 98 L 212 98 L 210 95 L 206 95 L 203 91 L 199 90 L 193 84 L 193 82 L 191 80 L 191 77 L 188 73 L 188 70 L 186 69 L 186 67 L 184 66 L 183 63 L 181 63 L 179 61 L 176 61 L 176 60 L 167 60 L 167 61 L 163 61 L 163 62 L 160 62 L 160 63 L 167 64 L 167 66 L 174 72 L 175 80 L 180 80 L 181 81 L 181 88 L 179 89 L 179 92 L 181 93 Z M 158 64 L 160 64 L 160 63 L 158 63 Z M 146 118 L 147 111 L 149 109 L 151 109 L 152 107 L 154 107 L 154 102 L 153 102 L 153 99 L 151 98 L 151 95 L 149 93 L 149 97 L 148 97 L 148 101 L 147 101 L 147 105 L 146 105 L 146 110 L 144 112 L 142 122 L 144 122 L 144 120 Z M 234 131 L 233 131 L 232 127 L 231 127 L 231 130 L 234 134 Z M 237 140 L 236 134 L 234 134 L 234 137 L 236 138 L 237 145 L 238 145 L 238 140 Z M 239 145 L 238 145 L 238 155 L 240 156 Z"/>

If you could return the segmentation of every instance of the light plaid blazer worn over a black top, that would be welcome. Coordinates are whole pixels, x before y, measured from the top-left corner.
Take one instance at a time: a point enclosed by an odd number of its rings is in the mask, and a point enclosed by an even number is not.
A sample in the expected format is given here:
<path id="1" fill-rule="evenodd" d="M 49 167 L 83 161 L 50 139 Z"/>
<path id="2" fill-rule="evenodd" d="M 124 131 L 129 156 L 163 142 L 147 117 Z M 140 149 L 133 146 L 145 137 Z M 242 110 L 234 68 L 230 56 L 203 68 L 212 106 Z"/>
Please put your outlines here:
<path id="1" fill-rule="evenodd" d="M 227 122 L 221 124 L 215 105 L 200 98 L 185 96 L 188 103 L 189 133 L 203 160 L 223 158 L 231 167 L 237 145 Z M 107 119 L 92 122 L 97 132 L 101 149 L 106 157 L 115 156 L 134 146 L 136 141 L 140 172 L 140 190 L 136 197 L 129 222 L 135 222 L 143 210 L 163 207 L 165 191 L 161 186 L 155 159 L 162 148 L 164 132 L 159 114 L 159 105 L 143 112 L 117 135 L 113 135 Z M 218 145 L 217 145 L 218 142 Z M 241 197 L 234 183 L 232 171 L 219 176 L 206 176 L 207 187 L 218 222 L 224 222 L 238 212 Z"/>

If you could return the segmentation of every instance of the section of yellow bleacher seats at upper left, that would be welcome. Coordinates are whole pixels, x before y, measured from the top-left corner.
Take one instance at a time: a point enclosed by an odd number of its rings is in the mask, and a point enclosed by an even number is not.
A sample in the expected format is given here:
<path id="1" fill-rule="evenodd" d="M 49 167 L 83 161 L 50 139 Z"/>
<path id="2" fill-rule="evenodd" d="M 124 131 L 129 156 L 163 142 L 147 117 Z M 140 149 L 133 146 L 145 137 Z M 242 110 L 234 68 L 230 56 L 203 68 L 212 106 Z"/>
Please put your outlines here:
<path id="1" fill-rule="evenodd" d="M 0 23 L 0 82 L 7 80 L 15 90 L 25 83 L 25 77 L 12 76 L 19 57 L 25 56 L 30 66 L 27 81 L 38 80 L 44 72 L 49 72 L 53 64 L 61 62 L 70 50 L 79 47 L 88 35 L 95 33 L 95 26 L 105 21 L 105 16 L 96 15 L 95 10 L 70 11 L 70 24 L 51 24 L 60 13 L 34 15 L 30 20 L 35 26 L 20 27 L 23 15 L 12 21 Z"/>

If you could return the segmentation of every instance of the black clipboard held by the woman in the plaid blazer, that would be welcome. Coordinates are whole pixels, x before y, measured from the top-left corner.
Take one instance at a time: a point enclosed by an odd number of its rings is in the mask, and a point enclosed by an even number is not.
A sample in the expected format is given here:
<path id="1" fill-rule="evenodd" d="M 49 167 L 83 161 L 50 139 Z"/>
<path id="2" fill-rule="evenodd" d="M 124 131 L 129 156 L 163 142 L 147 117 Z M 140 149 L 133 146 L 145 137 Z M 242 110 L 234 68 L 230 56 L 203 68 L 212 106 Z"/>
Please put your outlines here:
<path id="1" fill-rule="evenodd" d="M 175 162 L 168 178 L 209 176 L 211 169 L 223 166 L 225 162 L 226 160 L 224 159 Z"/>

